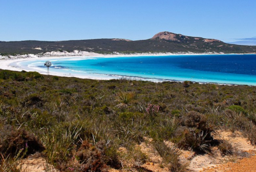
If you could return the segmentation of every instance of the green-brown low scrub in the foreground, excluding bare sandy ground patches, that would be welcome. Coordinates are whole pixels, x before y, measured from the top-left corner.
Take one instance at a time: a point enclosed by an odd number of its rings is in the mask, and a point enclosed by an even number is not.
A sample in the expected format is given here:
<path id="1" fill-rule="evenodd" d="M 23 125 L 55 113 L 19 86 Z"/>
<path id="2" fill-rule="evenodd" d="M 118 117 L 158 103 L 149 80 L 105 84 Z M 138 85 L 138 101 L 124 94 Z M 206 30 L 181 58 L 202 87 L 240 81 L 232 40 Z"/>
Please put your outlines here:
<path id="1" fill-rule="evenodd" d="M 97 81 L 0 70 L 0 171 L 44 157 L 60 171 L 184 171 L 181 151 L 236 153 L 214 138 L 240 131 L 256 142 L 256 87 L 191 82 Z M 242 153 L 241 153 L 242 154 Z M 52 171 L 50 166 L 46 168 Z"/>

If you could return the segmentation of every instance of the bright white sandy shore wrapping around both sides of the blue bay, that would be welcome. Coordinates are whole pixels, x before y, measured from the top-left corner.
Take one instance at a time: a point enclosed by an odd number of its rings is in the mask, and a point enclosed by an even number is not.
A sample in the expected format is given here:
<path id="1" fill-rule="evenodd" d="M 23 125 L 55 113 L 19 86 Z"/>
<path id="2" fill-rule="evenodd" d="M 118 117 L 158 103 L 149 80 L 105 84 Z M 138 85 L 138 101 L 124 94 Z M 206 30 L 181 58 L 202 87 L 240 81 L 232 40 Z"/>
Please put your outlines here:
<path id="1" fill-rule="evenodd" d="M 67 58 L 75 58 L 75 59 L 84 59 L 86 60 L 87 58 L 115 58 L 115 57 L 152 57 L 152 56 L 180 56 L 180 55 L 185 55 L 185 56 L 193 56 L 193 55 L 241 55 L 241 54 L 220 54 L 220 53 L 205 53 L 205 54 L 173 54 L 173 53 L 142 53 L 142 54 L 113 54 L 113 55 L 102 55 L 102 54 L 96 54 L 96 53 L 89 53 L 89 52 L 80 52 L 80 51 L 74 51 L 73 53 L 68 53 L 68 52 L 50 52 L 48 53 L 46 56 L 42 56 L 42 55 L 33 55 L 33 54 L 29 54 L 29 55 L 19 55 L 19 56 L 15 56 L 15 57 L 4 57 L 1 59 L 1 65 L 0 65 L 0 69 L 6 69 L 6 70 L 13 70 L 13 71 L 22 71 L 22 70 L 26 70 L 26 71 L 38 71 L 41 74 L 46 75 L 47 72 L 44 69 L 40 69 L 38 67 L 25 67 L 24 65 L 20 65 L 20 63 L 26 63 L 26 61 L 33 61 L 33 60 L 60 60 L 60 59 L 67 59 Z M 73 60 L 72 59 L 72 60 Z M 42 63 L 42 62 L 40 62 Z M 24 67 L 23 67 L 24 66 Z M 39 69 L 39 70 L 38 70 Z M 65 69 L 64 69 L 65 70 Z M 164 82 L 164 81 L 171 81 L 171 82 L 183 82 L 185 80 L 188 79 L 164 79 L 164 78 L 154 78 L 153 76 L 148 78 L 148 77 L 139 77 L 136 75 L 120 75 L 118 73 L 90 73 L 90 72 L 86 72 L 86 73 L 73 73 L 71 72 L 59 72 L 57 70 L 52 70 L 51 71 L 51 75 L 53 76 L 60 76 L 60 77 L 76 77 L 76 78 L 84 78 L 84 79 L 94 79 L 94 80 L 110 80 L 110 79 L 130 79 L 130 80 L 145 80 L 145 81 L 151 81 L 151 82 Z M 190 81 L 190 80 L 189 80 Z M 193 80 L 191 80 L 193 81 Z M 210 84 L 220 84 L 220 85 L 237 85 L 236 83 L 223 83 L 223 82 L 215 82 L 214 80 L 209 81 L 209 80 L 201 80 L 201 81 L 194 81 L 194 82 L 198 82 L 200 84 L 205 84 L 205 83 L 210 83 Z M 252 84 L 247 84 L 247 85 L 254 85 Z"/>

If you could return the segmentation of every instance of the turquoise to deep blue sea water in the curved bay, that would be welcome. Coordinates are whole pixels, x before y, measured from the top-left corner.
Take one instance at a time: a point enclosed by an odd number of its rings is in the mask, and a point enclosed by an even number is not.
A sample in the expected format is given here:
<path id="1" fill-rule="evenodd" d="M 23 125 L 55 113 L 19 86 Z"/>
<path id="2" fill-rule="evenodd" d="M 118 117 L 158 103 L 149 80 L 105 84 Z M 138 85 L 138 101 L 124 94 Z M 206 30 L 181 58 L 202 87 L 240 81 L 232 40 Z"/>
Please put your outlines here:
<path id="1" fill-rule="evenodd" d="M 46 72 L 47 60 L 27 60 L 17 65 Z M 170 55 L 131 57 L 51 58 L 51 73 L 80 78 L 256 85 L 256 55 Z"/>

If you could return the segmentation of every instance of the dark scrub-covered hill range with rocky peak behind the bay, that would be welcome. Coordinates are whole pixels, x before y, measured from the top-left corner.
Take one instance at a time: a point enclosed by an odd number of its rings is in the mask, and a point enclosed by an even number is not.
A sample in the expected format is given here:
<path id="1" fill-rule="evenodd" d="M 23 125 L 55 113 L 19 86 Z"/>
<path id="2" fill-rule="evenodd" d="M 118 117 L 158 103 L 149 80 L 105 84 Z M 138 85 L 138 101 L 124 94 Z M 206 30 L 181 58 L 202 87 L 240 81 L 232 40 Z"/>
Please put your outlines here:
<path id="1" fill-rule="evenodd" d="M 256 46 L 228 44 L 217 39 L 191 37 L 160 32 L 151 39 L 89 39 L 69 41 L 0 41 L 0 54 L 39 54 L 74 50 L 112 54 L 118 53 L 256 53 Z"/>

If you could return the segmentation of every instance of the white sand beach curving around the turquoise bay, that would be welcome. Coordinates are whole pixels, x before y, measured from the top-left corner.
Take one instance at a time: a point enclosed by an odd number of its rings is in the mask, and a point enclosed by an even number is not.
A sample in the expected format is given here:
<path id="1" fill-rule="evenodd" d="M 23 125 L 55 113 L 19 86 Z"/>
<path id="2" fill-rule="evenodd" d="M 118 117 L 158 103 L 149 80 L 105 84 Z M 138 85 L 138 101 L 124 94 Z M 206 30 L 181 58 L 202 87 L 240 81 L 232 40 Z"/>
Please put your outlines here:
<path id="1" fill-rule="evenodd" d="M 115 55 L 103 55 L 103 54 L 97 54 L 97 53 L 89 53 L 89 52 L 75 52 L 74 53 L 66 53 L 66 52 L 50 52 L 47 55 L 34 55 L 34 54 L 28 54 L 28 55 L 18 55 L 18 56 L 12 56 L 7 57 L 0 56 L 0 69 L 4 70 L 13 70 L 13 71 L 37 71 L 43 75 L 47 75 L 46 71 L 38 71 L 36 69 L 30 70 L 25 69 L 20 66 L 18 66 L 19 62 L 28 61 L 28 60 L 44 60 L 44 59 L 61 59 L 61 58 L 69 58 L 69 57 L 79 57 L 79 58 L 94 58 L 94 57 L 100 57 L 100 58 L 116 58 L 116 57 L 146 57 L 146 56 L 194 56 L 194 55 L 241 55 L 241 54 L 220 54 L 220 53 L 208 53 L 208 54 L 173 54 L 173 53 L 143 53 L 143 54 L 115 54 Z M 250 55 L 250 54 L 242 54 L 242 55 Z M 253 55 L 253 54 L 252 54 Z M 15 63 L 15 65 L 11 65 L 12 63 Z M 179 80 L 168 80 L 168 79 L 157 79 L 157 78 L 140 78 L 136 76 L 118 76 L 118 75 L 99 75 L 100 77 L 96 77 L 95 75 L 90 75 L 90 73 L 87 73 L 87 75 L 67 75 L 65 73 L 61 72 L 51 72 L 52 76 L 59 76 L 59 77 L 76 77 L 81 79 L 93 79 L 93 80 L 111 80 L 111 79 L 127 79 L 127 80 L 145 80 L 145 81 L 151 81 L 151 82 L 184 82 Z M 225 84 L 225 83 L 217 83 L 217 82 L 197 82 L 197 81 L 191 81 L 196 82 L 200 84 L 217 84 L 217 85 L 243 85 L 243 84 Z"/>

